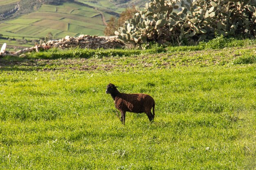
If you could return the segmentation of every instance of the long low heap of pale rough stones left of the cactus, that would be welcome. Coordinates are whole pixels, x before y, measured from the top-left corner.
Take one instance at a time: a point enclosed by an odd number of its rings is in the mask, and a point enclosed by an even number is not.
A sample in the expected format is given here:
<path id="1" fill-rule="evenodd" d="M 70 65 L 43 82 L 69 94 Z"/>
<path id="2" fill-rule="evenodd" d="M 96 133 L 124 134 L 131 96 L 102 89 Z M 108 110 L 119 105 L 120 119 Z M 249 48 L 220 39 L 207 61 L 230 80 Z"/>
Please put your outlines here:
<path id="1" fill-rule="evenodd" d="M 46 43 L 36 45 L 31 48 L 19 50 L 13 55 L 20 55 L 22 53 L 28 53 L 31 51 L 39 51 L 40 49 L 47 50 L 53 47 L 66 49 L 66 48 L 86 48 L 86 49 L 115 49 L 117 47 L 124 46 L 124 42 L 121 42 L 117 36 L 103 37 L 103 36 L 90 36 L 79 35 L 78 37 L 66 36 L 60 40 L 49 40 Z"/>

